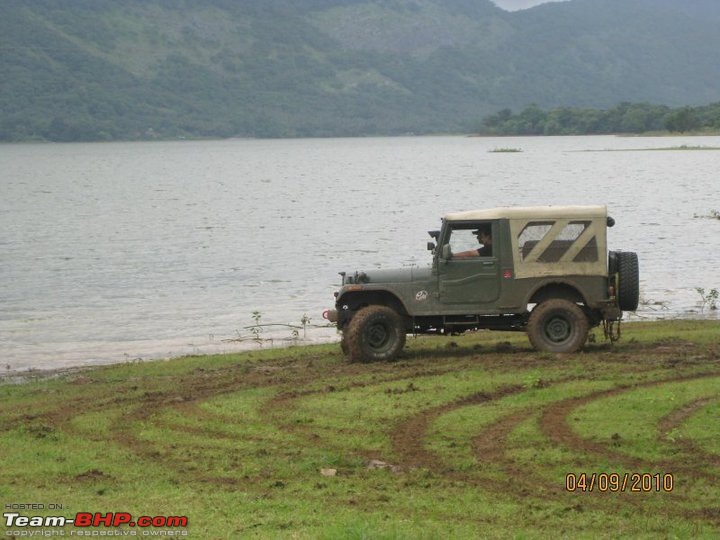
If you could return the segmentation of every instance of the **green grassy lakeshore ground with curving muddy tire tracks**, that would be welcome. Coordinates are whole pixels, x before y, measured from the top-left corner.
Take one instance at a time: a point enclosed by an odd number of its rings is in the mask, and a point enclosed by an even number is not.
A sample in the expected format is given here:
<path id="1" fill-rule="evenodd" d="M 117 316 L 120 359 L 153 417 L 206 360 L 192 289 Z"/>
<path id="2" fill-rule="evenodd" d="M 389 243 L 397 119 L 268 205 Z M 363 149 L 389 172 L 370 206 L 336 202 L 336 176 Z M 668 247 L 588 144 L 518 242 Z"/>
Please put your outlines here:
<path id="1" fill-rule="evenodd" d="M 623 330 L 573 355 L 477 332 L 394 363 L 321 345 L 6 382 L 0 500 L 196 538 L 716 537 L 720 325 Z M 583 472 L 674 490 L 567 492 Z"/>

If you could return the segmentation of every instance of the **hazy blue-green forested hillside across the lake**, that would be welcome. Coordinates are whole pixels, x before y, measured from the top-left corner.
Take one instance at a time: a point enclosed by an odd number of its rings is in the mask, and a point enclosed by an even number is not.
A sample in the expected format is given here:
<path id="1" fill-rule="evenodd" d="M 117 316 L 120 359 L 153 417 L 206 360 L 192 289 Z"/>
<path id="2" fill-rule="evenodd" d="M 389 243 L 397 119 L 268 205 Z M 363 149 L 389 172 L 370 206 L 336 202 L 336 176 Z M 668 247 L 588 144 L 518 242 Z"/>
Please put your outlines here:
<path id="1" fill-rule="evenodd" d="M 0 140 L 468 132 L 720 101 L 720 2 L 3 0 Z"/>

